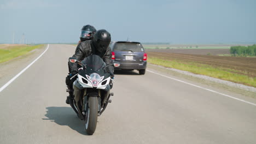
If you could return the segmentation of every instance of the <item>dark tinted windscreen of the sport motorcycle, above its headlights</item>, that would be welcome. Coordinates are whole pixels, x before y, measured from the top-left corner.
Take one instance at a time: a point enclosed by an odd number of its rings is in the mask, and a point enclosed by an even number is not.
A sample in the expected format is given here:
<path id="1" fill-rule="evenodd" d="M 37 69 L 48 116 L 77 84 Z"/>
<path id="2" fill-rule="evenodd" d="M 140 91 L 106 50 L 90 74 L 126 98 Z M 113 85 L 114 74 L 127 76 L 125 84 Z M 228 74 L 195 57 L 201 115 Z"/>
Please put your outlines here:
<path id="1" fill-rule="evenodd" d="M 97 55 L 90 55 L 86 57 L 82 63 L 86 65 L 86 69 L 90 69 L 92 71 L 99 70 L 104 66 L 103 59 Z"/>

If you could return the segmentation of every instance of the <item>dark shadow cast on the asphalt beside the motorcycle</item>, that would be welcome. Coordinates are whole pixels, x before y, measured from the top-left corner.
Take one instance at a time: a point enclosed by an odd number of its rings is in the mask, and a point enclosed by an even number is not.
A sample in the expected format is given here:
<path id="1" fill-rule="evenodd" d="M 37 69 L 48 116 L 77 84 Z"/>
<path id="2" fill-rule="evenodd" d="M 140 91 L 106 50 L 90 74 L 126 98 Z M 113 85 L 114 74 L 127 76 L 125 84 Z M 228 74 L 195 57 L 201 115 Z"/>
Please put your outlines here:
<path id="1" fill-rule="evenodd" d="M 42 118 L 43 120 L 50 120 L 59 125 L 67 125 L 71 129 L 77 131 L 82 135 L 88 135 L 85 132 L 85 123 L 81 121 L 71 107 L 46 107 L 48 118 Z"/>

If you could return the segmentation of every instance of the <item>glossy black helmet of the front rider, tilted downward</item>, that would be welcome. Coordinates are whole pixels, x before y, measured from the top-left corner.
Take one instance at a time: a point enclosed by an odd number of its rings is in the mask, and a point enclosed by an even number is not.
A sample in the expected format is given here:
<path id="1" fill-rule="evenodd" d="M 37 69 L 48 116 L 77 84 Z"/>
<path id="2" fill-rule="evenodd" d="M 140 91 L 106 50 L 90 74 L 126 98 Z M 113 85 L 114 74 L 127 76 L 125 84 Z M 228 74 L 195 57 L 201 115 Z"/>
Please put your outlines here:
<path id="1" fill-rule="evenodd" d="M 106 51 L 111 41 L 110 33 L 105 29 L 100 29 L 94 34 L 92 41 L 98 52 Z"/>

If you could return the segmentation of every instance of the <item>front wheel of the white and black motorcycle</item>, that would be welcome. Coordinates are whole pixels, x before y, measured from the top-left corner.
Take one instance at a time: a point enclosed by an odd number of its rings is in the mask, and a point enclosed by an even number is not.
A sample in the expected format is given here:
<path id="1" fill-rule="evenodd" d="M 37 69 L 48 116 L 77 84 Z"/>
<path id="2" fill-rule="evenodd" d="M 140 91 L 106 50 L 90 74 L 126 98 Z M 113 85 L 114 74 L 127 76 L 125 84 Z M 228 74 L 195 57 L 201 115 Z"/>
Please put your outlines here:
<path id="1" fill-rule="evenodd" d="M 89 97 L 88 99 L 88 109 L 86 111 L 86 123 L 85 130 L 88 135 L 94 134 L 97 125 L 97 117 L 98 117 L 98 98 L 97 97 Z"/>

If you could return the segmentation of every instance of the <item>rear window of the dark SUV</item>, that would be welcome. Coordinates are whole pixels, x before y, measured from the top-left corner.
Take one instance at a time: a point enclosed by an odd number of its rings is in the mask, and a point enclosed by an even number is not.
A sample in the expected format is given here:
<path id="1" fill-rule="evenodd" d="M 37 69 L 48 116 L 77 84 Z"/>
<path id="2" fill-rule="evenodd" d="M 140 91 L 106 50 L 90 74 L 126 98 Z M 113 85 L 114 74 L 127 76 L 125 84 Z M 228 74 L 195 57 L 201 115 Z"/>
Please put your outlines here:
<path id="1" fill-rule="evenodd" d="M 137 43 L 116 43 L 114 46 L 114 51 L 142 52 L 144 49 L 141 44 Z"/>

